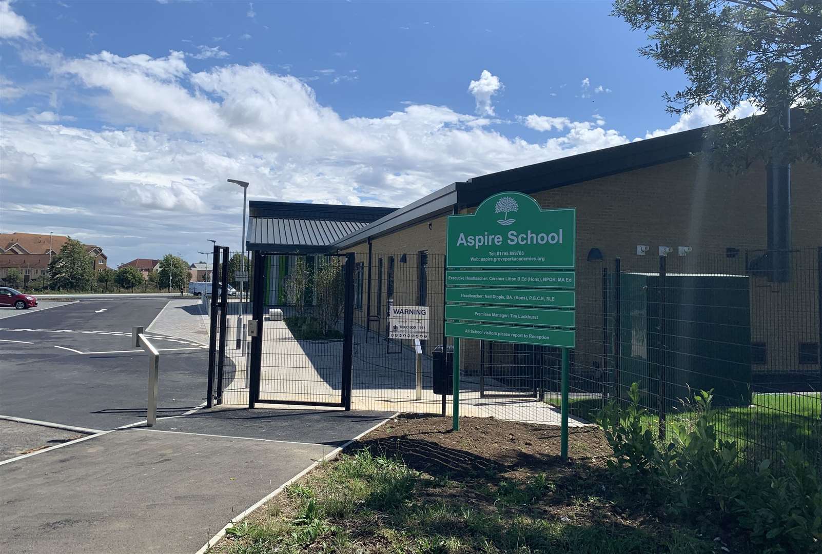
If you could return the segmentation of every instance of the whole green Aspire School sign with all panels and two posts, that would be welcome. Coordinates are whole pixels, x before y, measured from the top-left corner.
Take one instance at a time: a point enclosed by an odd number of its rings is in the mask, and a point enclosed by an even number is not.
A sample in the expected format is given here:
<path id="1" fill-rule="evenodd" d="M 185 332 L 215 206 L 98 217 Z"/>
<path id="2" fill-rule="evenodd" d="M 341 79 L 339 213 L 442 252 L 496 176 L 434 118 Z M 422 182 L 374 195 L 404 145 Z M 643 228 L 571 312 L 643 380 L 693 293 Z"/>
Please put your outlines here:
<path id="1" fill-rule="evenodd" d="M 569 349 L 575 347 L 576 210 L 543 210 L 501 192 L 446 231 L 446 337 L 454 339 L 453 428 L 459 430 L 459 339 L 559 347 L 561 454 L 568 456 Z"/>

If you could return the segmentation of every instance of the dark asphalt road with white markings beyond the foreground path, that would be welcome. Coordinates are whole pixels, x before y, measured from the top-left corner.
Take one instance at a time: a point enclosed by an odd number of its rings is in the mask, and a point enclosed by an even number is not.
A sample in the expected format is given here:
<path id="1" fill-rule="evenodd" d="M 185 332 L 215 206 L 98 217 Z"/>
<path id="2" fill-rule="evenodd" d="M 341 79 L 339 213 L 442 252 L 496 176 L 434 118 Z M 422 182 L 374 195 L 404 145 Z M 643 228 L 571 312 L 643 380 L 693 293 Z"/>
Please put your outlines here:
<path id="1" fill-rule="evenodd" d="M 132 349 L 131 327 L 147 327 L 166 302 L 89 300 L 0 320 L 0 413 L 101 430 L 145 418 L 148 358 Z M 158 415 L 201 404 L 207 351 L 155 344 L 173 349 L 160 356 Z"/>

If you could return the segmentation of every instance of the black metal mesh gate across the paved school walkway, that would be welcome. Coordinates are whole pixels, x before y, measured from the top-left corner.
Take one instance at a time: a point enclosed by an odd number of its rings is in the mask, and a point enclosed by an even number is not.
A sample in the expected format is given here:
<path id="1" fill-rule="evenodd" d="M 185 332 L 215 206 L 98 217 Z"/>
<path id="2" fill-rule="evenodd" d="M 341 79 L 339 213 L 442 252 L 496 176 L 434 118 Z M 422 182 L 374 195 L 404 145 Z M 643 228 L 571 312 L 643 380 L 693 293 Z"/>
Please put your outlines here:
<path id="1" fill-rule="evenodd" d="M 351 409 L 355 265 L 353 254 L 255 253 L 250 408 Z"/>

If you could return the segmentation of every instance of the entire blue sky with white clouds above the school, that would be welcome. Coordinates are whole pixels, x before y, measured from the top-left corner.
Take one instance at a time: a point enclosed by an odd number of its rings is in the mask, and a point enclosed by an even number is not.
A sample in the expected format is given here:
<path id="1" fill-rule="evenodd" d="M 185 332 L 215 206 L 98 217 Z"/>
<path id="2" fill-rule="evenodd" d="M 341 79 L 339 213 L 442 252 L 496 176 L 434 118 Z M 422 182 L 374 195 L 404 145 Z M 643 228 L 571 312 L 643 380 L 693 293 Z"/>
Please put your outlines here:
<path id="1" fill-rule="evenodd" d="M 0 229 L 109 265 L 238 245 L 240 196 L 403 205 L 715 122 L 610 2 L 0 2 Z M 224 240 L 223 240 L 224 239 Z"/>

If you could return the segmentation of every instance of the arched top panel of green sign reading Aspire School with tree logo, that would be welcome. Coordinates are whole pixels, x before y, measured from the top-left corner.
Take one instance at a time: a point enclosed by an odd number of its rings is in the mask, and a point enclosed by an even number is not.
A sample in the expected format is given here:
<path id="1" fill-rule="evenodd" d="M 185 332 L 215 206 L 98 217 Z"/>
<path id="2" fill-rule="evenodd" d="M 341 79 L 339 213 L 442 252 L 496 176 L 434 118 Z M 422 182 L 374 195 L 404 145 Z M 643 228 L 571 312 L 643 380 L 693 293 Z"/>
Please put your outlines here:
<path id="1" fill-rule="evenodd" d="M 543 210 L 531 196 L 501 192 L 470 215 L 448 216 L 451 268 L 573 269 L 575 208 Z"/>

